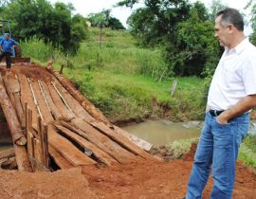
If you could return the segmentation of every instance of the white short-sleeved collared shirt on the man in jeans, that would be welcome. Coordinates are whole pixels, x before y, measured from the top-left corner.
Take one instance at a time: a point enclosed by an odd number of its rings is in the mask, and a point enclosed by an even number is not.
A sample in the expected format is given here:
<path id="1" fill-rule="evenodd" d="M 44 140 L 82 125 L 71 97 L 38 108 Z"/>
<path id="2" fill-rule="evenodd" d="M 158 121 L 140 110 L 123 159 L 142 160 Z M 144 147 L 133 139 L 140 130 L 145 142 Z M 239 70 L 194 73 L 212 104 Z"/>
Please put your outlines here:
<path id="1" fill-rule="evenodd" d="M 253 94 L 256 94 L 256 47 L 245 39 L 234 48 L 226 47 L 210 83 L 208 107 L 227 110 Z"/>

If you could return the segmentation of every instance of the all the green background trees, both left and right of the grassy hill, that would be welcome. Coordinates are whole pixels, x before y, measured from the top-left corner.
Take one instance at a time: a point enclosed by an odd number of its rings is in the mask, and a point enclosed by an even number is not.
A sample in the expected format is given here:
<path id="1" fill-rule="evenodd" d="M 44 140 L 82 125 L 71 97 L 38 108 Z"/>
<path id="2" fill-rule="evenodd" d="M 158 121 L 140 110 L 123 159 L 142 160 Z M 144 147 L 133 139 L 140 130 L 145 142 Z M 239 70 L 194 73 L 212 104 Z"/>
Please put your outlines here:
<path id="1" fill-rule="evenodd" d="M 138 0 L 123 0 L 118 6 L 132 8 Z M 162 80 L 172 76 L 208 77 L 214 71 L 223 48 L 214 38 L 215 13 L 226 6 L 221 0 L 212 0 L 210 9 L 201 2 L 189 0 L 144 0 L 144 7 L 136 9 L 128 19 L 137 45 L 160 49 L 165 63 L 162 67 L 146 69 L 143 75 Z M 253 33 L 250 40 L 256 44 L 256 3 L 247 4 L 251 11 Z M 76 54 L 88 37 L 86 21 L 93 27 L 124 28 L 111 16 L 110 9 L 92 13 L 87 18 L 73 15 L 72 4 L 47 0 L 4 0 L 0 2 L 0 16 L 10 20 L 14 38 L 28 41 L 36 38 L 62 50 Z M 156 71 L 157 70 L 157 71 Z"/>

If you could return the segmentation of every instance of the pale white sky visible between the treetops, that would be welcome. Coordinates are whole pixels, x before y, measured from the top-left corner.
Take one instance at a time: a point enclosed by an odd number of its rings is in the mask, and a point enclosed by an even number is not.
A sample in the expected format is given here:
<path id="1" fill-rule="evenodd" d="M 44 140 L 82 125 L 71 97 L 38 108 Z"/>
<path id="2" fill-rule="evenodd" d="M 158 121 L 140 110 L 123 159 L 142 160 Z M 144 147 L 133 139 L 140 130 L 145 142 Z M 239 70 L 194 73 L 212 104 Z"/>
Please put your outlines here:
<path id="1" fill-rule="evenodd" d="M 87 16 L 89 13 L 101 12 L 102 9 L 111 9 L 112 16 L 118 18 L 124 27 L 127 27 L 126 20 L 134 10 L 129 8 L 115 8 L 114 6 L 121 0 L 49 0 L 51 3 L 55 3 L 57 1 L 64 2 L 65 4 L 72 3 L 76 9 L 74 13 L 80 13 L 82 16 Z M 143 0 L 140 1 L 143 2 Z M 195 1 L 196 0 L 191 0 L 191 2 Z M 210 7 L 211 0 L 200 1 L 203 2 L 208 8 Z M 222 0 L 222 3 L 231 8 L 243 11 L 243 9 L 247 6 L 248 1 L 249 0 Z M 137 4 L 135 9 L 142 6 L 142 3 Z M 247 14 L 246 17 L 248 17 L 249 13 L 245 13 Z M 250 32 L 251 28 L 247 26 L 245 33 L 248 35 Z"/>

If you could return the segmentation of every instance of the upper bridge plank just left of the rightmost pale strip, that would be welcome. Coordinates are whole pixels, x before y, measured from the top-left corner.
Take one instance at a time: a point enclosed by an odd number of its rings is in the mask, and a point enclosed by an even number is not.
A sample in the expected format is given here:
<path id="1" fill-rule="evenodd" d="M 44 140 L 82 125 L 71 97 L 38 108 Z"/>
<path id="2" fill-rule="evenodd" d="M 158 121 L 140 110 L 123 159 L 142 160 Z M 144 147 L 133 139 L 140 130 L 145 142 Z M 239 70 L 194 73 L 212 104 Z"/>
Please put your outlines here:
<path id="1" fill-rule="evenodd" d="M 53 99 L 54 104 L 56 105 L 56 107 L 58 107 L 59 111 L 62 113 L 62 116 L 66 120 L 71 120 L 72 118 L 74 118 L 72 113 L 65 107 L 64 102 L 62 101 L 62 99 L 54 89 L 53 85 L 47 84 L 47 87 L 48 87 L 48 90 L 50 91 L 51 99 Z"/>

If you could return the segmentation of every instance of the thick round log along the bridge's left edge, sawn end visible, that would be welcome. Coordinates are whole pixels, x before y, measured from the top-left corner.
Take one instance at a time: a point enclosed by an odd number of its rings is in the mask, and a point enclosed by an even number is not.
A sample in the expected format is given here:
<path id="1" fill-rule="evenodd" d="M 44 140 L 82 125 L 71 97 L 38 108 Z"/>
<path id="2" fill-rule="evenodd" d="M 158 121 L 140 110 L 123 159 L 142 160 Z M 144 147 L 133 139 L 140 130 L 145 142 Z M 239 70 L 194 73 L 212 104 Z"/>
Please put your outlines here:
<path id="1" fill-rule="evenodd" d="M 9 131 L 12 136 L 13 143 L 24 146 L 27 143 L 27 138 L 23 134 L 15 109 L 13 108 L 8 94 L 6 92 L 4 82 L 0 76 L 0 101 L 5 117 L 7 118 Z"/>

